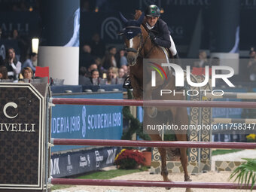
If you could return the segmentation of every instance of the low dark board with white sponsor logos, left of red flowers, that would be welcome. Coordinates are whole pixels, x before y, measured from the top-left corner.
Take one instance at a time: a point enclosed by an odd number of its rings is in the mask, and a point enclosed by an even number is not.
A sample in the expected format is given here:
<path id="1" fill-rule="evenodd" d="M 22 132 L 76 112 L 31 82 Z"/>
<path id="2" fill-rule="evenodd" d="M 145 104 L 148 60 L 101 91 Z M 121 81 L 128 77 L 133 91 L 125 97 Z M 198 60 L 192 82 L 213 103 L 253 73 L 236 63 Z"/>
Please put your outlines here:
<path id="1" fill-rule="evenodd" d="M 53 154 L 50 159 L 50 175 L 53 178 L 62 178 L 112 166 L 114 164 L 114 157 L 119 152 L 120 147 L 108 147 L 66 154 Z"/>

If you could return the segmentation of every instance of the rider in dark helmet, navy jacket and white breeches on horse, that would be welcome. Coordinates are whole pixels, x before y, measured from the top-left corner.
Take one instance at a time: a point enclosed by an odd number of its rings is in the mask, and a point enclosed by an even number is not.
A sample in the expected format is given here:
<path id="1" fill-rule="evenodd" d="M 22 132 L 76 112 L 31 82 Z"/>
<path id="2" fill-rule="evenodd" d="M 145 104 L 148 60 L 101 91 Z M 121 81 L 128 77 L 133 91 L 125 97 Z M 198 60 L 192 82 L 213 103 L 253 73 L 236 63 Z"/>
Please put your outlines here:
<path id="1" fill-rule="evenodd" d="M 151 41 L 161 47 L 165 47 L 170 50 L 172 56 L 178 59 L 178 53 L 170 35 L 167 24 L 160 19 L 160 9 L 157 5 L 149 5 L 145 11 L 145 26 L 148 29 L 148 34 Z M 133 88 L 131 86 L 130 78 L 126 78 L 123 83 L 124 88 Z"/>

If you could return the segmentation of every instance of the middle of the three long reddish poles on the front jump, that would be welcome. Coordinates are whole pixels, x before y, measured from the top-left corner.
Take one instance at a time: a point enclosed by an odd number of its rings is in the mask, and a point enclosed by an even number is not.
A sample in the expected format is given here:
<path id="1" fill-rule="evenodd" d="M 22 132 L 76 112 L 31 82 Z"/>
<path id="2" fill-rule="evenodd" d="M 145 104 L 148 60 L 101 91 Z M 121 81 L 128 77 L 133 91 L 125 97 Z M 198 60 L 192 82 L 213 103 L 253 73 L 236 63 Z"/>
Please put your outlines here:
<path id="1" fill-rule="evenodd" d="M 254 149 L 256 143 L 243 142 L 164 142 L 164 141 L 130 141 L 111 139 L 51 139 L 53 145 L 90 145 L 123 147 L 161 147 L 161 148 L 239 148 Z"/>

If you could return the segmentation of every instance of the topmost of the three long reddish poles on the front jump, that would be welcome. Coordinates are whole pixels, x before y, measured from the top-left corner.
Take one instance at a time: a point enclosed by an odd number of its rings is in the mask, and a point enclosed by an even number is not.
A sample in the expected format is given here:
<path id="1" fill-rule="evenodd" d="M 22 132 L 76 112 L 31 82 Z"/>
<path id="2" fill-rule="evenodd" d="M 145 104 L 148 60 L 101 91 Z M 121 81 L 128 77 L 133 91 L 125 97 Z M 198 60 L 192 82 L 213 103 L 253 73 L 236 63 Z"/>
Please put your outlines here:
<path id="1" fill-rule="evenodd" d="M 217 102 L 184 100 L 132 100 L 132 99 L 68 99 L 50 98 L 50 103 L 62 105 L 112 105 L 197 108 L 256 108 L 256 102 Z"/>

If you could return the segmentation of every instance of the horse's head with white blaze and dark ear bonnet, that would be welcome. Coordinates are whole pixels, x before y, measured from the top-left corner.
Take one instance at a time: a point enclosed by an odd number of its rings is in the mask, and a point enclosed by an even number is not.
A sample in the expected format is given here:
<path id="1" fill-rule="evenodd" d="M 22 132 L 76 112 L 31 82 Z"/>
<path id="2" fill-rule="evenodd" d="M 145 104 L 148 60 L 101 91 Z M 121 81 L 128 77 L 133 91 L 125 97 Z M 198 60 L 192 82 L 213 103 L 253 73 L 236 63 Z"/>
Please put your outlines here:
<path id="1" fill-rule="evenodd" d="M 142 47 L 142 29 L 141 24 L 144 20 L 144 13 L 142 13 L 138 20 L 126 20 L 123 14 L 120 13 L 120 17 L 123 20 L 125 29 L 123 35 L 125 35 L 125 45 L 127 51 L 127 61 L 130 66 L 136 64 L 136 59 L 139 55 L 139 51 Z"/>

